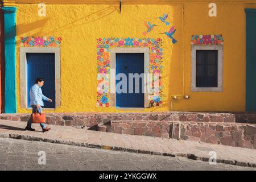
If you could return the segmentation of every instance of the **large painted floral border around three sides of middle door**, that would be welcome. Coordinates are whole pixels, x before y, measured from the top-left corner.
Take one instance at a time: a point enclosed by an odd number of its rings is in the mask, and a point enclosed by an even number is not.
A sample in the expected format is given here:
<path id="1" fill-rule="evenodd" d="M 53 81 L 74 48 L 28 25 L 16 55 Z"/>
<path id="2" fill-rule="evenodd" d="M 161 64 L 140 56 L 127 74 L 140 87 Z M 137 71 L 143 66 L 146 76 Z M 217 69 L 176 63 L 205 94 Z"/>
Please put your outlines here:
<path id="1" fill-rule="evenodd" d="M 97 39 L 97 104 L 96 106 L 109 107 L 110 90 L 110 48 L 111 47 L 149 47 L 150 48 L 150 73 L 159 74 L 159 88 L 151 85 L 151 100 L 149 107 L 162 105 L 163 86 L 163 49 L 162 39 L 150 38 L 98 38 Z M 100 74 L 105 73 L 105 74 Z M 108 76 L 104 76 L 108 75 Z"/>

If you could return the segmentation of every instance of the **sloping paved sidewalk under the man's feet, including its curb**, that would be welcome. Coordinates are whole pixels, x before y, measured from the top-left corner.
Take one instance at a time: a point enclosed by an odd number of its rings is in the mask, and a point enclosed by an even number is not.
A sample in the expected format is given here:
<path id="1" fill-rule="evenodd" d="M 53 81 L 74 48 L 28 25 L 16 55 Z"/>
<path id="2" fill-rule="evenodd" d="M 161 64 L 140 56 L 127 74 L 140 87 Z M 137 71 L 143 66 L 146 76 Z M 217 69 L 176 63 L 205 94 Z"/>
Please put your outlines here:
<path id="1" fill-rule="evenodd" d="M 0 137 L 36 140 L 75 146 L 128 151 L 152 155 L 184 156 L 195 160 L 209 160 L 209 151 L 215 151 L 218 163 L 256 167 L 256 150 L 230 147 L 188 140 L 165 139 L 105 133 L 71 126 L 55 126 L 42 133 L 39 124 L 32 124 L 36 131 L 26 131 L 26 122 L 0 120 Z"/>

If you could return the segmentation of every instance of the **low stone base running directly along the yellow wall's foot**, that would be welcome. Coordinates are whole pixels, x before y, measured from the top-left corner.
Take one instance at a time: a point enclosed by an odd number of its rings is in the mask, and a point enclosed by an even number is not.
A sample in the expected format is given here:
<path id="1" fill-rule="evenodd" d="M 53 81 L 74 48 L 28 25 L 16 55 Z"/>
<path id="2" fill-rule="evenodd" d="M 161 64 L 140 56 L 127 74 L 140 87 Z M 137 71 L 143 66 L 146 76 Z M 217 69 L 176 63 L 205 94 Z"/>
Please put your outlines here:
<path id="1" fill-rule="evenodd" d="M 0 119 L 27 122 L 31 114 L 0 114 Z M 46 123 L 92 127 L 108 121 L 193 121 L 235 122 L 232 113 L 155 112 L 155 113 L 46 113 Z"/>

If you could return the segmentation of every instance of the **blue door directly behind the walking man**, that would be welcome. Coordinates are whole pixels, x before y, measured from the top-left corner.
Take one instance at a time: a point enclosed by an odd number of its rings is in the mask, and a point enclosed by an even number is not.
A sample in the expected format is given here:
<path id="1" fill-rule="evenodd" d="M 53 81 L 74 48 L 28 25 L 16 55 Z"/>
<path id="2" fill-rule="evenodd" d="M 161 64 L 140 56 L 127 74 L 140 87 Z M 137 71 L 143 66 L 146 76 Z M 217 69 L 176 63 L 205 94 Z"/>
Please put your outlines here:
<path id="1" fill-rule="evenodd" d="M 55 53 L 26 53 L 27 57 L 27 101 L 29 92 L 38 77 L 44 78 L 42 92 L 52 102 L 44 101 L 44 107 L 55 108 Z"/>

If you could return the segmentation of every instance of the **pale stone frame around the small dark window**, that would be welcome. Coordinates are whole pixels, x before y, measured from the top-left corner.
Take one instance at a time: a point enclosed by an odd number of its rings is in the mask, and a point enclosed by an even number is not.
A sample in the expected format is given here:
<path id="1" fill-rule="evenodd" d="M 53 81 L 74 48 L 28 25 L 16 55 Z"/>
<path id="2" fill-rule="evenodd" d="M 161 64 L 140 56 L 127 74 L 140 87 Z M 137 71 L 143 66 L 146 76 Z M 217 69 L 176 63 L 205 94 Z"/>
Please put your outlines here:
<path id="1" fill-rule="evenodd" d="M 196 51 L 197 50 L 217 50 L 218 78 L 217 87 L 196 87 Z M 191 45 L 191 92 L 223 92 L 223 46 L 195 46 Z"/>

